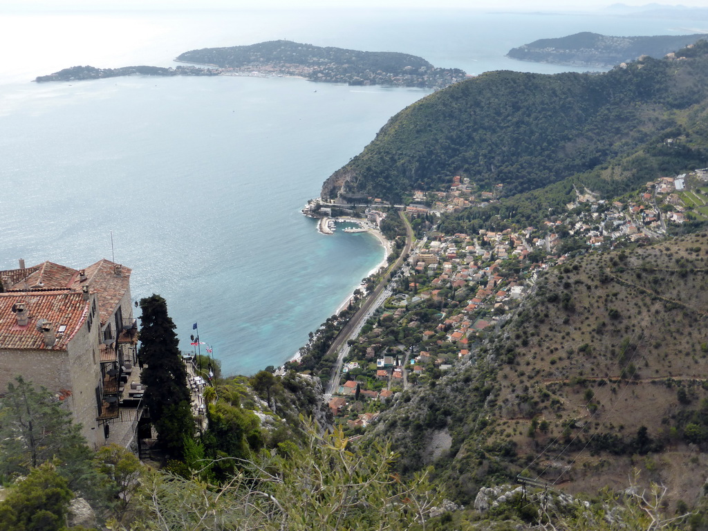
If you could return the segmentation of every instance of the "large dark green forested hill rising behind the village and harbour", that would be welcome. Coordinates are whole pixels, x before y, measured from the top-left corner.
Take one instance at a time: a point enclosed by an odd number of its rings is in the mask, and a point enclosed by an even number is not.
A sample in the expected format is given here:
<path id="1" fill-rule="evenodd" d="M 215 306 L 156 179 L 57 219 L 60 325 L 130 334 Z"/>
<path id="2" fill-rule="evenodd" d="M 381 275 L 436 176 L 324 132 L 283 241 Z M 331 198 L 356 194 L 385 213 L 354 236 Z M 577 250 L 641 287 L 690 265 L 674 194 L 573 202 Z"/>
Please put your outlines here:
<path id="1" fill-rule="evenodd" d="M 605 74 L 488 72 L 410 105 L 324 183 L 394 202 L 437 190 L 452 176 L 510 196 L 629 156 L 680 130 L 704 137 L 691 113 L 708 99 L 708 44 L 674 59 L 646 58 Z M 700 127 L 694 130 L 693 125 Z M 683 129 L 682 129 L 683 127 Z M 701 155 L 699 155 L 701 156 Z M 636 178 L 651 178 L 641 157 Z"/>

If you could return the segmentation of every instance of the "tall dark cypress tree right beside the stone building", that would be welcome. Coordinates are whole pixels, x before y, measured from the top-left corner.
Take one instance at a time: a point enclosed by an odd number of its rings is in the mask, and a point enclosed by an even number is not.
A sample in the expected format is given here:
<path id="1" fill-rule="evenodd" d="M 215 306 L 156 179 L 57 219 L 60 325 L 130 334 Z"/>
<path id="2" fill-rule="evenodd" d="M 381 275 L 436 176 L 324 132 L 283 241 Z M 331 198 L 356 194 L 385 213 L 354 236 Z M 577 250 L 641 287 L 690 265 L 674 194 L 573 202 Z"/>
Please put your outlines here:
<path id="1" fill-rule="evenodd" d="M 194 432 L 187 387 L 187 370 L 179 351 L 176 326 L 159 295 L 140 300 L 140 362 L 146 365 L 141 381 L 147 386 L 145 405 L 157 430 L 158 440 L 171 457 L 183 457 L 185 437 Z"/>

